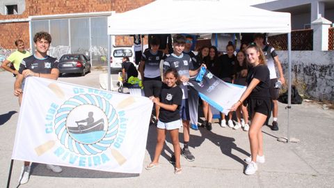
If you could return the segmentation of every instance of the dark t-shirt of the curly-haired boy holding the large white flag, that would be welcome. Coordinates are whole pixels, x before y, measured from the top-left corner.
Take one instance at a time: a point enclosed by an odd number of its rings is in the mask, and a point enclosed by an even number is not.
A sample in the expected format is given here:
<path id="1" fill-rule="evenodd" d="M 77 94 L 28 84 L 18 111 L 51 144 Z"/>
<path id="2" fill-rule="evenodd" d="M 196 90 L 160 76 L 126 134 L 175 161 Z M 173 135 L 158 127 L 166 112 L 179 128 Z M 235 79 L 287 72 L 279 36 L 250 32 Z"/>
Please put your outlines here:
<path id="1" fill-rule="evenodd" d="M 50 74 L 53 68 L 58 69 L 58 61 L 56 58 L 47 56 L 45 58 L 36 58 L 34 55 L 24 58 L 19 64 L 19 74 L 26 69 L 29 69 L 33 72 Z"/>

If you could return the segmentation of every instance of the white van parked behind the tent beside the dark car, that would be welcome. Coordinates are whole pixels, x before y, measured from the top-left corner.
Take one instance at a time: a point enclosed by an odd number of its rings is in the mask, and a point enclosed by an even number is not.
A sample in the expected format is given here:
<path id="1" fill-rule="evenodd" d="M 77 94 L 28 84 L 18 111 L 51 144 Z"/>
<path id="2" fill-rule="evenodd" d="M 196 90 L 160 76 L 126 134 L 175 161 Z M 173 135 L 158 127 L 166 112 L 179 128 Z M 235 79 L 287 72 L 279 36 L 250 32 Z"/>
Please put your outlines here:
<path id="1" fill-rule="evenodd" d="M 111 69 L 120 70 L 122 68 L 122 58 L 128 56 L 130 62 L 134 63 L 134 47 L 118 46 L 111 49 Z M 134 63 L 134 65 L 136 65 Z"/>

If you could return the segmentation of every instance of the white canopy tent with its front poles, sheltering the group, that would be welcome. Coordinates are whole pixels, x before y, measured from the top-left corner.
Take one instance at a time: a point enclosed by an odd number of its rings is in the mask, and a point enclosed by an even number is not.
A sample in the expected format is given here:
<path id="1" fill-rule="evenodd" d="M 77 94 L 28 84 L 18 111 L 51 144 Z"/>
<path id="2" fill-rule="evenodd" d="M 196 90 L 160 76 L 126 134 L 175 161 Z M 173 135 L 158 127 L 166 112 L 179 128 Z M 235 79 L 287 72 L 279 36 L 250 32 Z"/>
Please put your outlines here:
<path id="1" fill-rule="evenodd" d="M 262 10 L 237 1 L 157 0 L 146 6 L 108 17 L 109 54 L 111 52 L 111 36 L 161 33 L 288 33 L 287 141 L 289 141 L 289 108 L 291 107 L 290 13 Z M 110 62 L 110 56 L 108 58 Z M 110 64 L 108 67 L 110 72 Z M 110 83 L 108 85 L 110 86 Z"/>

